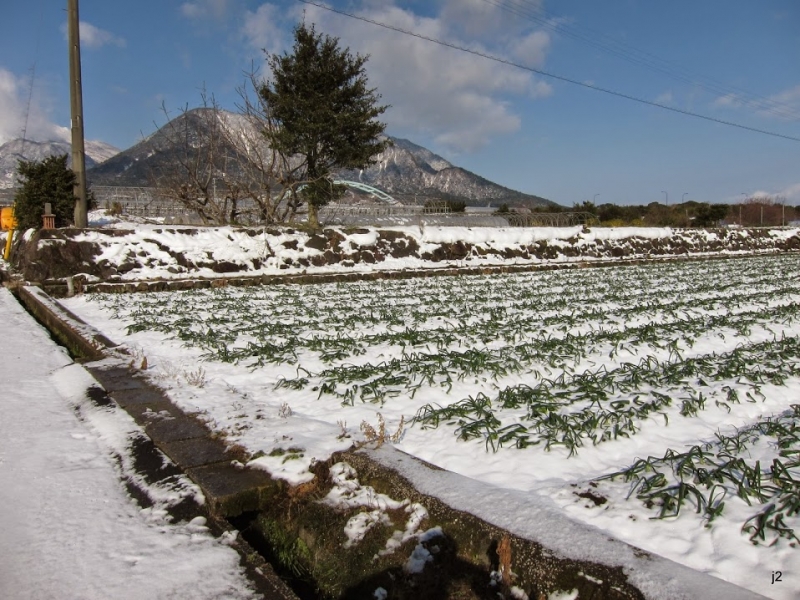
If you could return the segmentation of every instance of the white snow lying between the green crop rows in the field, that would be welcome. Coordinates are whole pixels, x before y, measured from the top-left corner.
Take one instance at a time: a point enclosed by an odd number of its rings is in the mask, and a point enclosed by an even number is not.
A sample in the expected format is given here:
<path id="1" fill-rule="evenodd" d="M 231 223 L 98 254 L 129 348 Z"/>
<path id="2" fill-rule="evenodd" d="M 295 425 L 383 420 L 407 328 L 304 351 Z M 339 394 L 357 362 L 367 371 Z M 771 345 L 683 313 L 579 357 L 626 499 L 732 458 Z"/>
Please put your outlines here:
<path id="1" fill-rule="evenodd" d="M 756 388 L 748 384 L 747 378 L 684 382 L 675 389 L 663 388 L 684 399 L 691 396 L 692 386 L 701 389 L 706 395 L 704 410 L 694 417 L 684 416 L 678 410 L 680 404 L 674 404 L 664 409 L 666 416 L 658 412 L 637 422 L 639 431 L 629 438 L 620 437 L 597 446 L 585 440 L 577 456 L 570 456 L 564 446 L 545 452 L 541 445 L 516 449 L 513 442 L 492 452 L 488 441 L 484 443 L 481 438 L 459 439 L 453 435 L 453 426 L 442 423 L 425 429 L 419 423 L 408 423 L 425 405 L 449 405 L 470 396 L 475 398 L 478 393 L 495 398 L 498 390 L 533 385 L 543 377 L 556 379 L 559 372 L 580 375 L 611 371 L 646 356 L 668 362 L 673 353 L 685 359 L 713 359 L 745 345 L 767 343 L 782 336 L 792 339 L 800 335 L 800 322 L 791 316 L 800 302 L 798 275 L 796 257 L 788 256 L 707 265 L 227 288 L 106 299 L 80 296 L 63 303 L 114 341 L 146 355 L 151 378 L 167 388 L 175 402 L 184 410 L 205 415 L 212 428 L 257 456 L 252 466 L 265 468 L 275 477 L 295 484 L 307 481 L 311 477 L 307 466 L 312 460 L 324 459 L 335 450 L 346 449 L 354 439 L 362 439 L 359 423 L 363 432 L 363 423 L 378 429 L 385 419 L 386 433 L 396 434 L 394 445 L 398 449 L 443 467 L 454 477 L 466 477 L 462 484 L 467 487 L 470 481 L 475 483 L 474 489 L 461 493 L 461 487 L 448 491 L 446 483 L 429 482 L 431 492 L 447 496 L 456 508 L 546 541 L 548 547 L 568 556 L 603 560 L 604 548 L 584 547 L 580 536 L 566 533 L 568 527 L 553 525 L 557 522 L 553 515 L 560 514 L 563 519 L 588 523 L 700 572 L 771 598 L 789 600 L 796 598 L 796 590 L 800 589 L 800 549 L 786 539 L 772 547 L 749 541 L 741 528 L 757 512 L 758 503 L 748 506 L 731 494 L 726 498 L 723 515 L 710 527 L 704 527 L 703 516 L 694 514 L 692 506 L 684 507 L 678 518 L 654 520 L 652 508 L 635 497 L 626 499 L 630 483 L 600 482 L 598 493 L 602 492 L 606 502 L 597 505 L 587 494 L 594 489 L 589 484 L 591 480 L 623 469 L 636 458 L 661 457 L 667 448 L 684 451 L 693 444 L 714 440 L 718 431 L 730 434 L 759 419 L 781 414 L 800 398 L 800 378 L 796 375 L 779 385 L 765 383 Z M 708 287 L 703 289 L 704 285 Z M 615 288 L 616 296 L 606 295 L 611 288 Z M 691 300 L 686 301 L 687 296 Z M 467 314 L 469 307 L 476 304 L 478 311 Z M 230 310 L 247 316 L 229 321 Z M 709 325 L 713 323 L 710 319 L 729 315 L 732 316 L 727 324 Z M 748 320 L 751 325 L 737 329 Z M 372 324 L 365 325 L 366 321 Z M 396 375 L 403 361 L 414 353 L 419 357 L 441 350 L 415 346 L 413 341 L 408 341 L 408 348 L 405 342 L 402 348 L 397 342 L 367 342 L 362 353 L 347 346 L 353 340 L 358 346 L 361 339 L 404 331 L 412 337 L 430 332 L 466 335 L 464 332 L 472 326 L 495 331 L 489 327 L 495 321 L 519 324 L 521 337 L 508 344 L 491 336 L 462 337 L 448 342 L 443 351 L 487 350 L 490 355 L 495 352 L 500 356 L 502 350 L 508 356 L 534 338 L 554 341 L 566 339 L 569 334 L 585 335 L 586 340 L 591 340 L 592 336 L 601 339 L 617 330 L 624 334 L 623 343 L 615 348 L 607 342 L 592 342 L 594 345 L 587 346 L 587 356 L 574 358 L 574 362 L 567 357 L 569 368 L 563 371 L 552 364 L 535 364 L 496 379 L 487 379 L 480 371 L 465 377 L 454 375 L 447 385 L 436 381 L 413 393 L 401 390 L 390 394 L 376 403 L 364 402 L 363 396 L 348 401 L 345 388 L 349 384 L 334 386 L 339 397 L 331 397 L 332 388 L 325 387 L 321 373 L 328 368 L 395 364 L 391 361 L 398 359 L 397 370 L 389 369 L 390 374 Z M 673 321 L 677 325 L 670 328 Z M 689 325 L 694 329 L 690 331 Z M 274 355 L 296 350 L 297 358 L 258 364 L 264 340 L 259 332 L 273 326 L 283 327 L 284 333 L 266 336 L 271 344 L 269 352 Z M 660 337 L 653 342 L 655 345 L 637 337 L 644 336 L 651 326 L 663 328 L 658 329 Z M 205 346 L 196 342 L 201 338 L 206 340 Z M 304 347 L 293 349 L 288 343 L 291 339 Z M 317 351 L 309 350 L 319 340 L 344 343 L 344 357 L 323 360 Z M 253 352 L 224 362 L 219 358 L 223 348 L 224 352 L 248 348 Z M 792 355 L 786 361 L 794 365 L 797 357 Z M 760 366 L 764 365 L 756 365 Z M 742 401 L 727 404 L 724 400 L 730 396 L 724 395 L 729 393 L 726 389 L 738 390 Z M 754 389 L 761 396 L 753 402 L 745 401 L 745 393 Z M 650 388 L 644 386 L 638 393 L 647 398 Z M 632 398 L 625 394 L 617 397 Z M 635 398 L 638 400 L 639 396 Z M 577 410 L 572 405 L 569 410 L 573 408 Z M 514 410 L 517 409 L 496 410 L 503 425 L 526 422 L 524 415 Z M 754 454 L 748 458 L 760 457 L 763 465 L 777 456 L 777 447 L 768 444 L 763 448 L 754 446 L 750 451 Z M 379 519 L 380 515 L 373 518 Z M 800 529 L 796 520 L 791 523 Z M 368 526 L 367 522 L 353 523 L 353 535 Z M 605 559 L 613 562 L 615 558 Z M 773 583 L 777 572 L 781 573 L 781 580 Z M 646 574 L 638 576 L 638 584 L 647 588 Z M 641 579 L 643 576 L 645 579 Z M 653 598 L 669 597 L 668 591 L 659 592 L 652 585 L 649 592 Z"/>

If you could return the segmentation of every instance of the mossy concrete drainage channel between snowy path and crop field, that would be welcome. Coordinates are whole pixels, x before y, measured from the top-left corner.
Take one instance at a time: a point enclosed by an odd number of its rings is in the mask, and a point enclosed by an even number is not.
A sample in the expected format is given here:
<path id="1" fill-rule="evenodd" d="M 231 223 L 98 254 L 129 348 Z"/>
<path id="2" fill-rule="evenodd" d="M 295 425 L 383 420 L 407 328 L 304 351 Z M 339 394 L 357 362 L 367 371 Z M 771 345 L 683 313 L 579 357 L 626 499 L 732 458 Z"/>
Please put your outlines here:
<path id="1" fill-rule="evenodd" d="M 457 490 L 472 484 L 468 494 L 474 494 L 475 482 L 387 446 L 336 453 L 315 464 L 313 481 L 290 487 L 244 467 L 244 449 L 228 447 L 183 413 L 146 380 L 141 365 L 41 289 L 15 292 L 96 379 L 89 398 L 121 407 L 141 426 L 146 435 L 131 446 L 136 471 L 148 482 L 185 473 L 202 489 L 205 504 L 182 502 L 173 507 L 174 517 L 203 515 L 217 535 L 240 532 L 233 546 L 264 598 L 644 600 L 691 598 L 699 589 L 707 599 L 760 597 L 564 519 L 555 537 L 574 540 L 580 550 L 574 556 L 581 558 L 554 552 L 546 542 L 514 535 L 459 507 Z M 354 513 L 322 501 L 343 480 L 357 493 L 397 499 L 352 548 L 343 531 Z M 146 493 L 125 483 L 146 506 Z M 501 494 L 498 501 L 513 499 Z"/>

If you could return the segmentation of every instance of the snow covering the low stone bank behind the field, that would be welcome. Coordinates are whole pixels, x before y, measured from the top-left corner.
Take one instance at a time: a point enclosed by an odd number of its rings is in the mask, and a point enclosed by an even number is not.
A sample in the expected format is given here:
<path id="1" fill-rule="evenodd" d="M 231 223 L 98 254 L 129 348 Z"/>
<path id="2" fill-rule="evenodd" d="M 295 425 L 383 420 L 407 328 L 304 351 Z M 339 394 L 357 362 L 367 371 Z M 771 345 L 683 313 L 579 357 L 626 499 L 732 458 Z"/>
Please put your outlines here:
<path id="1" fill-rule="evenodd" d="M 633 241 L 665 240 L 674 238 L 685 243 L 695 256 L 702 254 L 697 247 L 699 241 L 719 238 L 714 232 L 702 230 L 673 230 L 663 227 L 595 227 L 589 230 L 576 227 L 445 227 L 412 226 L 383 227 L 383 231 L 404 234 L 419 246 L 417 255 L 393 257 L 369 263 L 356 261 L 344 266 L 342 263 L 313 264 L 323 251 L 305 245 L 308 234 L 303 231 L 265 229 L 253 235 L 237 227 L 197 228 L 186 226 L 164 226 L 153 223 L 131 223 L 109 217 L 96 211 L 90 222 L 106 228 L 117 229 L 108 235 L 102 229 L 84 230 L 74 240 L 97 244 L 101 253 L 95 258 L 97 264 L 119 268 L 121 281 L 146 279 L 182 279 L 187 277 L 229 278 L 236 275 L 270 275 L 290 272 L 330 273 L 341 271 L 369 272 L 377 270 L 405 270 L 443 268 L 453 266 L 497 266 L 508 264 L 557 264 L 607 260 L 607 245 L 622 251 L 628 258 L 642 256 Z M 369 250 L 378 240 L 377 230 L 367 229 L 358 233 L 351 229 L 338 228 L 344 238 L 341 248 L 344 254 L 357 250 Z M 770 236 L 788 239 L 798 235 L 797 228 L 771 230 Z M 729 232 L 735 239 L 746 237 L 748 232 Z M 433 262 L 422 257 L 426 252 L 435 252 L 442 244 L 464 242 L 479 250 L 463 260 L 441 260 Z M 553 252 L 548 258 L 504 258 L 502 252 L 520 251 L 523 248 L 546 243 Z M 58 243 L 42 240 L 40 244 Z M 604 248 L 601 252 L 600 248 Z M 594 252 L 598 250 L 598 252 Z M 169 250 L 169 251 L 167 251 Z M 556 252 L 559 250 L 559 252 Z M 486 252 L 488 251 L 488 253 Z M 593 256 L 594 254 L 594 256 Z M 645 252 L 646 254 L 646 252 Z M 178 256 L 181 255 L 179 259 Z M 604 258 L 601 258 L 604 257 Z M 188 261 L 191 266 L 185 263 Z M 224 273 L 215 272 L 211 263 L 225 262 Z M 288 269 L 288 270 L 287 270 Z M 87 275 L 91 281 L 94 277 Z"/>

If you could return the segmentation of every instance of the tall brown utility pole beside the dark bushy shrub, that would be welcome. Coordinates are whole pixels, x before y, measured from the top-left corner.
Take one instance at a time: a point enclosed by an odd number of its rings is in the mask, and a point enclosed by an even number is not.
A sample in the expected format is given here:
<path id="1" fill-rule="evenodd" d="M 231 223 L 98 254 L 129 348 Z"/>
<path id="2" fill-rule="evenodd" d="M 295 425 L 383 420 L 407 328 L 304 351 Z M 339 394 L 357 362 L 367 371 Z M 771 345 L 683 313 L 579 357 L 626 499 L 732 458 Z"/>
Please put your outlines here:
<path id="1" fill-rule="evenodd" d="M 78 30 L 78 0 L 67 0 L 69 40 L 69 105 L 72 118 L 72 170 L 75 172 L 75 227 L 89 225 L 86 202 L 86 155 L 83 144 L 83 90 L 81 84 L 81 38 Z"/>

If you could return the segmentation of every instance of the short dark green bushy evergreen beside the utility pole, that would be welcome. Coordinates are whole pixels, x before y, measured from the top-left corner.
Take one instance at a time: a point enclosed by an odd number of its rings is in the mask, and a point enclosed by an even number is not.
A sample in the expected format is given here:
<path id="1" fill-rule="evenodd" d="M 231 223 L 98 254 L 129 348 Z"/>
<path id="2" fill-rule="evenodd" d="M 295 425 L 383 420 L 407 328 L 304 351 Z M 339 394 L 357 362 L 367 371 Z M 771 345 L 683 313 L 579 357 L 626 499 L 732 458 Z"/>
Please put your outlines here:
<path id="1" fill-rule="evenodd" d="M 72 223 L 75 214 L 75 173 L 67 168 L 66 154 L 50 156 L 41 161 L 21 160 L 17 174 L 17 183 L 21 187 L 14 197 L 14 216 L 19 231 L 42 226 L 45 202 L 51 205 L 56 227 L 66 227 Z"/>

